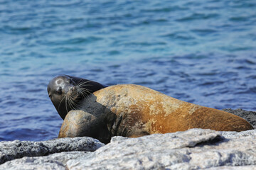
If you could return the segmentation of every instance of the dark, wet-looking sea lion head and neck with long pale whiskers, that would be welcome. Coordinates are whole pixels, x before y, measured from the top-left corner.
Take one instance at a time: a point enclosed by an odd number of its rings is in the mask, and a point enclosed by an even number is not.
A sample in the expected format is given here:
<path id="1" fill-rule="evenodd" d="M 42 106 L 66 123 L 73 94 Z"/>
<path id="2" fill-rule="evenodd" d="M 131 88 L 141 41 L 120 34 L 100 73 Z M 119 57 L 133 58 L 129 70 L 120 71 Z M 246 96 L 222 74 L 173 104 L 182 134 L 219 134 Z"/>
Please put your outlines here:
<path id="1" fill-rule="evenodd" d="M 60 75 L 49 82 L 47 91 L 58 114 L 64 119 L 69 111 L 80 107 L 84 98 L 105 87 L 95 81 Z"/>

